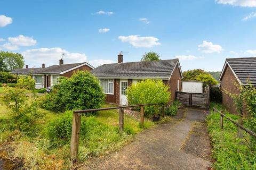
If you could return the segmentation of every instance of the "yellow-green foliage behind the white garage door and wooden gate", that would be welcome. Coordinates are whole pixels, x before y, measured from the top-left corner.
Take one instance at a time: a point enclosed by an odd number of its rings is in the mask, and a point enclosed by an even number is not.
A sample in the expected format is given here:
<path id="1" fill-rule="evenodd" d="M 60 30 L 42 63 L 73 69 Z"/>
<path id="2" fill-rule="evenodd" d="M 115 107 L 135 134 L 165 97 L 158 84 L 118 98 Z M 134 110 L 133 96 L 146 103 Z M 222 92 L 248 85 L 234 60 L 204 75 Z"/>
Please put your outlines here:
<path id="1" fill-rule="evenodd" d="M 215 80 L 211 74 L 205 72 L 202 69 L 195 69 L 190 71 L 183 72 L 183 78 L 182 80 L 196 80 L 196 81 L 202 81 L 204 84 L 207 84 L 209 86 L 218 84 L 218 81 Z"/>

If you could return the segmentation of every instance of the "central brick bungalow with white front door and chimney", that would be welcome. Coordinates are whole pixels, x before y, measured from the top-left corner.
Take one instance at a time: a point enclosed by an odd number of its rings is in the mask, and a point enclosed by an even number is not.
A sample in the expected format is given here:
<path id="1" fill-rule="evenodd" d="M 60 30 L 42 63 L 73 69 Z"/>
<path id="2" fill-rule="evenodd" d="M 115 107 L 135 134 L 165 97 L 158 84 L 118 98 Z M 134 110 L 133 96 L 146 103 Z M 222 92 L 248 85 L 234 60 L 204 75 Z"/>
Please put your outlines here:
<path id="1" fill-rule="evenodd" d="M 160 79 L 168 84 L 171 100 L 175 100 L 175 91 L 181 89 L 182 72 L 178 59 L 127 62 L 123 63 L 123 55 L 118 55 L 118 63 L 103 64 L 91 73 L 100 80 L 108 103 L 127 105 L 125 92 L 132 83 L 143 79 Z"/>

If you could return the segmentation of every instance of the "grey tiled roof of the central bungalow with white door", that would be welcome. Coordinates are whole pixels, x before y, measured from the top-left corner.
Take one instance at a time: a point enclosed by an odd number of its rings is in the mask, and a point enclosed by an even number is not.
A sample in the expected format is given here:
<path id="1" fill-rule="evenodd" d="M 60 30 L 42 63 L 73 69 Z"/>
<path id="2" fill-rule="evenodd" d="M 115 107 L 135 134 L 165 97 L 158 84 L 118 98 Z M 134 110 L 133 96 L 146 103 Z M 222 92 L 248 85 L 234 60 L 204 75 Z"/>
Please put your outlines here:
<path id="1" fill-rule="evenodd" d="M 92 74 L 99 78 L 159 78 L 169 79 L 179 60 L 160 60 L 146 62 L 129 62 L 103 64 Z"/>

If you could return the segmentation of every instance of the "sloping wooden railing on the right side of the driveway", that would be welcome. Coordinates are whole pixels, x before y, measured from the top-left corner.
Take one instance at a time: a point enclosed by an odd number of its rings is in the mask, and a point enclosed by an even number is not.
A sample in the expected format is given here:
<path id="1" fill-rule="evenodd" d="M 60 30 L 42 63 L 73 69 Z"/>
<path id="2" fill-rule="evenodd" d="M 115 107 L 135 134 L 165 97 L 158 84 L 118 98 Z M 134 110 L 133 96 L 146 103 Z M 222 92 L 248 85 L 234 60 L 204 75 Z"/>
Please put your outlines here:
<path id="1" fill-rule="evenodd" d="M 227 120 L 229 120 L 230 122 L 232 122 L 234 125 L 237 126 L 238 131 L 237 131 L 237 136 L 239 137 L 243 137 L 243 132 L 242 130 L 244 130 L 245 132 L 249 133 L 252 137 L 256 138 L 256 133 L 254 133 L 253 131 L 245 128 L 241 122 L 238 121 L 238 123 L 236 121 L 234 121 L 233 119 L 231 119 L 230 117 L 227 117 L 225 114 L 223 114 L 221 111 L 218 111 L 216 108 L 213 108 L 214 113 L 219 113 L 220 114 L 220 129 L 223 129 L 223 119 L 224 117 L 227 118 Z"/>

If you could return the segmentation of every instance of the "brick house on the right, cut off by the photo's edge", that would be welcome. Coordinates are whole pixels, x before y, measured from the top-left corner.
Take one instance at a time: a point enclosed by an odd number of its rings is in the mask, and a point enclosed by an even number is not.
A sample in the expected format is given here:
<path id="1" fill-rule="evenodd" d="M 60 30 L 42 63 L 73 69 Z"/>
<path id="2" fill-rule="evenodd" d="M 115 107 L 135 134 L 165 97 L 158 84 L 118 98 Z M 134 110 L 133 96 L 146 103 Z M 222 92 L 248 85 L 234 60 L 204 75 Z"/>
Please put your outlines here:
<path id="1" fill-rule="evenodd" d="M 234 99 L 229 94 L 240 93 L 239 85 L 250 81 L 256 86 L 256 57 L 227 58 L 220 75 L 222 103 L 229 112 L 237 114 Z"/>

